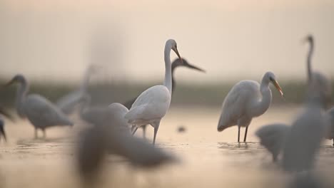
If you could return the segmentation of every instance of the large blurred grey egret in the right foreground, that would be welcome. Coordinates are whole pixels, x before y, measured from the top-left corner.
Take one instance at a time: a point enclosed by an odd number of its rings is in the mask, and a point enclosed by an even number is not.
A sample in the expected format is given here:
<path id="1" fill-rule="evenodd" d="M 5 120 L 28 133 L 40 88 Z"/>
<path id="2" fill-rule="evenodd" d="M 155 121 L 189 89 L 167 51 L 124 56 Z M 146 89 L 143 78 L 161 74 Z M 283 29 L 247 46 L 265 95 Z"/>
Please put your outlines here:
<path id="1" fill-rule="evenodd" d="M 323 110 L 325 99 L 319 90 L 319 80 L 311 80 L 308 87 L 308 100 L 303 113 L 293 122 L 283 146 L 283 169 L 300 172 L 313 167 L 315 154 L 325 135 L 327 122 Z"/>

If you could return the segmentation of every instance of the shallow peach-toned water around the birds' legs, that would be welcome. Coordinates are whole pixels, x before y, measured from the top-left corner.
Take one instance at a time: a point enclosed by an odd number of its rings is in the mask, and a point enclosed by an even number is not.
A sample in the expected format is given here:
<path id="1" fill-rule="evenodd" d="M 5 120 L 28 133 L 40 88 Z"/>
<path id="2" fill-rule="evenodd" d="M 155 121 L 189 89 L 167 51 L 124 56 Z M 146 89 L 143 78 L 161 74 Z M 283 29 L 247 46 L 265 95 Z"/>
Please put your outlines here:
<path id="1" fill-rule="evenodd" d="M 268 123 L 290 123 L 299 110 L 270 108 L 251 123 L 248 142 L 238 144 L 237 127 L 217 132 L 219 108 L 172 108 L 161 122 L 157 146 L 181 161 L 144 170 L 110 156 L 98 187 L 286 187 L 290 175 L 271 162 L 254 132 Z M 179 126 L 185 127 L 185 132 L 178 132 Z M 46 140 L 35 140 L 29 122 L 7 121 L 9 142 L 0 143 L 0 187 L 82 187 L 76 177 L 73 150 L 80 129 L 81 123 L 73 128 L 54 127 L 47 130 Z M 139 130 L 136 136 L 141 137 L 141 133 Z M 243 133 L 242 129 L 241 138 Z M 148 127 L 149 142 L 152 136 L 153 129 Z M 315 174 L 332 186 L 333 166 L 334 148 L 331 141 L 325 141 Z"/>

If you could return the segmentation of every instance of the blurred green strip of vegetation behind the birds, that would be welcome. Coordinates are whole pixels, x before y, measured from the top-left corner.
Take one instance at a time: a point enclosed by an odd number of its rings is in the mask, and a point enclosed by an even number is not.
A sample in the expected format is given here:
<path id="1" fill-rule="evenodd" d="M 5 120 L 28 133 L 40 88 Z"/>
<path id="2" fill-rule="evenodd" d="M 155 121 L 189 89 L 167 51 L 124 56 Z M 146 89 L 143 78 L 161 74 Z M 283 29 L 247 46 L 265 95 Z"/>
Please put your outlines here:
<path id="1" fill-rule="evenodd" d="M 334 82 L 332 82 L 334 83 Z M 4 81 L 0 81 L 4 85 Z M 172 105 L 178 106 L 221 106 L 223 99 L 226 97 L 234 83 L 226 84 L 209 84 L 209 85 L 184 85 L 178 83 L 175 92 L 173 93 Z M 92 105 L 107 105 L 110 103 L 123 103 L 126 100 L 135 98 L 143 90 L 154 85 L 154 83 L 145 83 L 131 85 L 129 83 L 92 83 L 88 92 L 92 96 Z M 280 83 L 283 88 L 285 99 L 280 98 L 280 95 L 274 87 L 273 104 L 299 104 L 305 99 L 305 83 L 303 82 L 283 82 Z M 79 88 L 77 86 L 61 85 L 59 83 L 31 83 L 29 93 L 39 93 L 44 95 L 51 101 L 56 101 L 66 93 Z M 14 98 L 16 95 L 16 87 L 1 88 L 0 90 L 0 105 L 9 108 L 14 107 Z"/>

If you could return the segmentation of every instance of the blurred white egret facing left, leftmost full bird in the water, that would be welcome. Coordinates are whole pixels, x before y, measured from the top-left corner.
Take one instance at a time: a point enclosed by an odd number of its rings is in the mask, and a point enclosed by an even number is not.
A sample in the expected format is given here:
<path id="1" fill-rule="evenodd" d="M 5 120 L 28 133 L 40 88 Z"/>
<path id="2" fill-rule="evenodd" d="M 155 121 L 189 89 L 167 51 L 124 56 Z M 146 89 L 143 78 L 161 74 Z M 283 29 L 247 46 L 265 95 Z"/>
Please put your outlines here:
<path id="1" fill-rule="evenodd" d="M 54 104 L 41 95 L 29 94 L 29 84 L 24 75 L 15 75 L 6 85 L 19 83 L 16 93 L 16 111 L 20 117 L 28 117 L 37 130 L 41 129 L 46 137 L 45 129 L 56 125 L 73 125 L 69 118 Z"/>

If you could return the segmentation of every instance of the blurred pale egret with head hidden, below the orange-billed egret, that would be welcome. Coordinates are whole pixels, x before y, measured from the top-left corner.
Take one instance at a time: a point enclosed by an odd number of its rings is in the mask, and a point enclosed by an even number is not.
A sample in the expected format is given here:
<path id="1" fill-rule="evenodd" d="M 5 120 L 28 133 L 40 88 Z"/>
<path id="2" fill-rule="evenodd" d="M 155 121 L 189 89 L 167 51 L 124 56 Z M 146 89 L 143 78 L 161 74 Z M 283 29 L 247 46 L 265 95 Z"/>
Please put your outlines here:
<path id="1" fill-rule="evenodd" d="M 277 161 L 289 130 L 290 126 L 288 125 L 273 123 L 263 125 L 255 132 L 255 135 L 260 139 L 260 145 L 263 145 L 273 155 L 273 162 Z"/>

